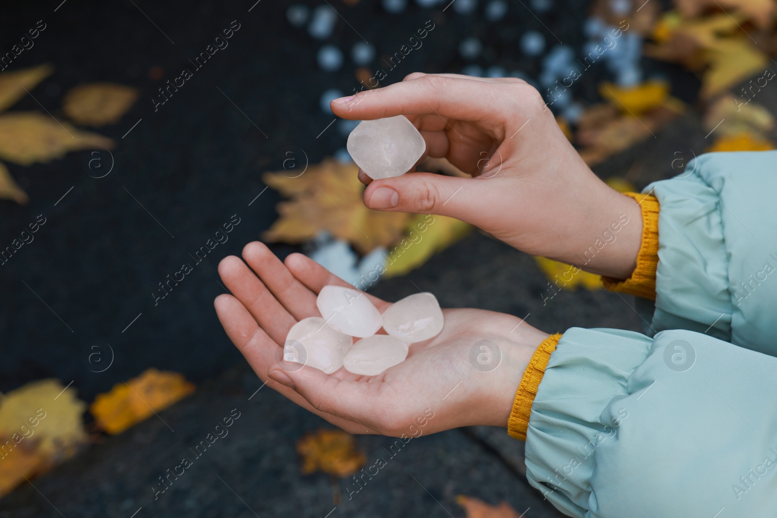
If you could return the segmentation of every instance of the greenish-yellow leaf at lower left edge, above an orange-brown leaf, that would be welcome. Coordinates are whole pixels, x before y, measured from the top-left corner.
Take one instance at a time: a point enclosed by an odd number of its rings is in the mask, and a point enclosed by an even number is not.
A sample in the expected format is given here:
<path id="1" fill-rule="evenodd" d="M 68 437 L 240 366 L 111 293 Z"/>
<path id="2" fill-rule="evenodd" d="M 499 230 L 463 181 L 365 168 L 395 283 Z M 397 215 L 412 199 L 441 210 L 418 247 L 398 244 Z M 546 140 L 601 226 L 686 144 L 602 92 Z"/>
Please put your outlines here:
<path id="1" fill-rule="evenodd" d="M 54 379 L 33 381 L 2 398 L 0 436 L 14 440 L 24 436 L 19 443 L 34 442 L 38 453 L 58 462 L 71 457 L 85 443 L 85 409 L 75 388 L 64 388 Z"/>

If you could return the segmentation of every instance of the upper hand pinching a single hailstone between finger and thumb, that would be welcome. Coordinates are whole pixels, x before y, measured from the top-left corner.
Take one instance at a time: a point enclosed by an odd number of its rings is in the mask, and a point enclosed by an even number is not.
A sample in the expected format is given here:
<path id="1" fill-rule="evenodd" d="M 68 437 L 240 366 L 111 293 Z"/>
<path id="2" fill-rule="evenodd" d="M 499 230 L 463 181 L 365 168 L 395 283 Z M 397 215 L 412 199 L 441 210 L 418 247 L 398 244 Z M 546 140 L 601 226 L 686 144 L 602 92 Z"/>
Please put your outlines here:
<path id="1" fill-rule="evenodd" d="M 427 155 L 475 176 L 416 173 L 370 182 L 362 172 L 368 207 L 456 217 L 516 249 L 593 273 L 625 279 L 635 268 L 639 207 L 594 175 L 539 92 L 521 79 L 414 73 L 331 106 L 351 120 L 404 115 L 426 140 Z M 607 248 L 599 252 L 597 240 Z"/>

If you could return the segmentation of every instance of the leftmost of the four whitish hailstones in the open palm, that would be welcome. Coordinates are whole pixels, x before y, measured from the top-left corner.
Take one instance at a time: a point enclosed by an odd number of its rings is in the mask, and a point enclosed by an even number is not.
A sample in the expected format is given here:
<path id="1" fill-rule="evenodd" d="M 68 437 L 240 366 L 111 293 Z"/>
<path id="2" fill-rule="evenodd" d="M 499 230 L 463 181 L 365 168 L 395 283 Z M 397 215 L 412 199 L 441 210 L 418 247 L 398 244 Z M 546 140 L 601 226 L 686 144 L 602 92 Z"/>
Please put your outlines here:
<path id="1" fill-rule="evenodd" d="M 353 343 L 354 339 L 326 325 L 323 318 L 304 318 L 286 335 L 284 360 L 332 374 L 343 367 L 343 356 Z"/>

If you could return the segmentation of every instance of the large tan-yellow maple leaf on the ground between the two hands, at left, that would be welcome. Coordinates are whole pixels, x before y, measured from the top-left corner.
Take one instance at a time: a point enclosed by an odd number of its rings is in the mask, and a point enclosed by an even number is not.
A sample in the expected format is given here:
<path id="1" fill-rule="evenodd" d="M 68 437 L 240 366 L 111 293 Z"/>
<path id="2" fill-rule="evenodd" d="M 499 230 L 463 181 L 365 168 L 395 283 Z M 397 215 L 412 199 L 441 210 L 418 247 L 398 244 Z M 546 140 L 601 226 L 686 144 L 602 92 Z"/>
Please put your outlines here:
<path id="1" fill-rule="evenodd" d="M 290 196 L 291 201 L 278 203 L 280 217 L 263 239 L 298 244 L 328 231 L 361 253 L 398 242 L 410 215 L 364 207 L 364 185 L 357 172 L 357 165 L 327 158 L 300 176 L 289 176 L 286 171 L 265 173 L 264 183 Z"/>

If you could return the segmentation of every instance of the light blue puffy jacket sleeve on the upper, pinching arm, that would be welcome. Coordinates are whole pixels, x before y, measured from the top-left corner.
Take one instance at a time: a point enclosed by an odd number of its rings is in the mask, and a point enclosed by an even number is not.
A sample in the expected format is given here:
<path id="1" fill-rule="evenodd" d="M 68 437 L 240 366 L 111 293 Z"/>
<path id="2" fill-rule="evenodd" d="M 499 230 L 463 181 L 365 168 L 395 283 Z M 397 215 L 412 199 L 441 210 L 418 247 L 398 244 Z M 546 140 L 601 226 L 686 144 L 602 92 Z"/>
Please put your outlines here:
<path id="1" fill-rule="evenodd" d="M 690 329 L 777 354 L 777 151 L 700 155 L 644 192 L 660 203 L 646 332 Z"/>

